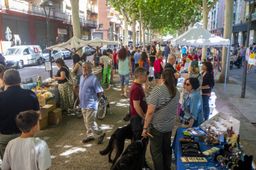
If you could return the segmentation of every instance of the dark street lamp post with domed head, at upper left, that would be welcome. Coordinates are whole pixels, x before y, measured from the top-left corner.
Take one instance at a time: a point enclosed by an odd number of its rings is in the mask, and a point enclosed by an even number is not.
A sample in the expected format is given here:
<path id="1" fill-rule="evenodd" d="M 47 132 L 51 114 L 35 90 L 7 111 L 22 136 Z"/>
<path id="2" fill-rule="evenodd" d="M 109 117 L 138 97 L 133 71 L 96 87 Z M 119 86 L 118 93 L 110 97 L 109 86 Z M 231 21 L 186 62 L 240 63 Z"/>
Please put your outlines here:
<path id="1" fill-rule="evenodd" d="M 48 39 L 48 47 L 50 46 L 50 37 L 49 37 L 49 15 L 51 12 L 51 8 L 53 8 L 53 2 L 45 0 L 41 2 L 40 7 L 43 7 L 43 9 L 49 9 L 49 14 L 47 16 L 46 10 L 45 10 L 45 16 L 46 16 L 46 24 L 47 24 L 47 39 Z M 51 62 L 51 49 L 49 49 L 49 62 Z M 51 70 L 49 71 L 50 77 L 53 77 L 53 67 L 51 65 Z"/>

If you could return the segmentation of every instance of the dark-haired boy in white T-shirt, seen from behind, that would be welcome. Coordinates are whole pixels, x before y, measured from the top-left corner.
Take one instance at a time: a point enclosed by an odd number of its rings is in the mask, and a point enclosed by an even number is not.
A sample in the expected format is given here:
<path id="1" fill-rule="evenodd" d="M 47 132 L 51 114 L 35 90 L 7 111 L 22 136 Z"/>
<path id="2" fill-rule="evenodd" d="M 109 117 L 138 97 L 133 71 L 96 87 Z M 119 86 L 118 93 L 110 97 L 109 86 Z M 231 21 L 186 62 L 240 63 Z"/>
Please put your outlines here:
<path id="1" fill-rule="evenodd" d="M 51 167 L 51 155 L 44 140 L 36 139 L 39 115 L 33 110 L 23 111 L 16 117 L 22 135 L 11 140 L 4 152 L 2 170 L 46 170 Z"/>

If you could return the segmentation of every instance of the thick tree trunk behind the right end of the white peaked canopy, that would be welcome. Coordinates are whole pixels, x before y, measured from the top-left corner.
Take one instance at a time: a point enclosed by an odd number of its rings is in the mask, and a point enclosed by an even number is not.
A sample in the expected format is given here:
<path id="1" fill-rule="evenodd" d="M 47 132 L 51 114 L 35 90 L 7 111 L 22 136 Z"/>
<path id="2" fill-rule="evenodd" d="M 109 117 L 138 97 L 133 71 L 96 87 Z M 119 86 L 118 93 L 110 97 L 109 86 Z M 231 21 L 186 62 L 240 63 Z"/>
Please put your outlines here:
<path id="1" fill-rule="evenodd" d="M 226 2 L 226 12 L 225 12 L 225 25 L 224 25 L 224 33 L 223 38 L 229 39 L 231 43 L 232 38 L 232 29 L 233 29 L 233 4 L 234 0 L 225 0 Z M 231 45 L 231 44 L 229 44 Z M 230 47 L 229 47 L 230 51 Z M 224 83 L 225 82 L 225 75 L 226 75 L 226 69 L 227 69 L 227 78 L 226 82 L 229 82 L 229 64 L 228 68 L 226 68 L 226 63 L 229 62 L 229 56 L 230 52 L 228 51 L 228 47 L 223 46 L 223 55 L 222 55 L 222 67 L 221 67 L 221 73 L 219 77 L 219 82 Z M 228 59 L 227 59 L 228 55 Z"/>

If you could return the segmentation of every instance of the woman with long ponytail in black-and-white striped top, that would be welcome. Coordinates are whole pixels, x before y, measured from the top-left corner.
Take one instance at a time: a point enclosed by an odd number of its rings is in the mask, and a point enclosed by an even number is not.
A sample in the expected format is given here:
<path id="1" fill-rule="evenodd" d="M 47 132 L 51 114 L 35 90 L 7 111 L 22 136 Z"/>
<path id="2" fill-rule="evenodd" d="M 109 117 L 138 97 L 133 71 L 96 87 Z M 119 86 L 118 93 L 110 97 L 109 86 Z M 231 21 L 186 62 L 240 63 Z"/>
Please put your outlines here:
<path id="1" fill-rule="evenodd" d="M 148 110 L 143 127 L 144 137 L 150 138 L 150 153 L 155 169 L 171 168 L 171 134 L 176 122 L 179 91 L 174 85 L 171 68 L 163 70 L 161 85 L 155 87 L 148 96 Z"/>

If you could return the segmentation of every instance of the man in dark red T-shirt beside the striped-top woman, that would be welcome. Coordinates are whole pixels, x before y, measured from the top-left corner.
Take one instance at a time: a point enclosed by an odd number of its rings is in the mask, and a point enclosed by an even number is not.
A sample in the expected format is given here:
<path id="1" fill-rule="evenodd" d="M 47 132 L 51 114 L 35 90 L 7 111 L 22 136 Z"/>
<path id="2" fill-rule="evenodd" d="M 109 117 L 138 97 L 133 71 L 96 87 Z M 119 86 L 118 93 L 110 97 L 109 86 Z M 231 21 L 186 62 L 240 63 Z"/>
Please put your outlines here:
<path id="1" fill-rule="evenodd" d="M 142 118 L 147 112 L 147 102 L 142 84 L 147 81 L 147 69 L 136 68 L 134 71 L 135 80 L 130 87 L 130 124 L 133 132 L 142 133 Z"/>

